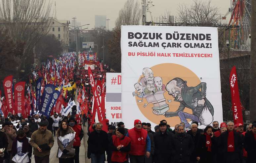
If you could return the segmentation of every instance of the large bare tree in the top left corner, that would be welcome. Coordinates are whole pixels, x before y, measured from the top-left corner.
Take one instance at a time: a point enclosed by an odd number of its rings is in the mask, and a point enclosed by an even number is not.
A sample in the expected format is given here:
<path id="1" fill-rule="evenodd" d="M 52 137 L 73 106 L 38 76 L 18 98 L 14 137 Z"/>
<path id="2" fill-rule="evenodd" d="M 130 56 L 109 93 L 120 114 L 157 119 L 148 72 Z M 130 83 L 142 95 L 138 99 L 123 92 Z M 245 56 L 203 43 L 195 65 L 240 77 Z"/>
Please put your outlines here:
<path id="1" fill-rule="evenodd" d="M 21 58 L 31 54 L 37 41 L 49 32 L 51 0 L 1 0 L 0 24 L 14 41 L 24 42 Z M 18 61 L 19 67 L 21 62 Z"/>

